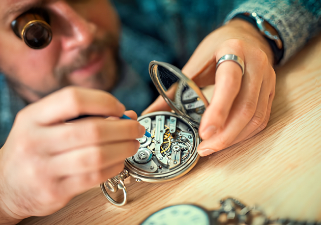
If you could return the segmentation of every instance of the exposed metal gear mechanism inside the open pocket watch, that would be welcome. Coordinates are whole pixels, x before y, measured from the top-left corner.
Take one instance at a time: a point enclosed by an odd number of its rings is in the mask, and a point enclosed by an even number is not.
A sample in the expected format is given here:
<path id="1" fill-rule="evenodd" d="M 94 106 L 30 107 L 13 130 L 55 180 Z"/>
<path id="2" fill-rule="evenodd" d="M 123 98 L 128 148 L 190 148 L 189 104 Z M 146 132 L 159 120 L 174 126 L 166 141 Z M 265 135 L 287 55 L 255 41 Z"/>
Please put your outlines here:
<path id="1" fill-rule="evenodd" d="M 127 159 L 135 170 L 155 175 L 168 173 L 184 167 L 185 162 L 193 154 L 197 154 L 194 148 L 193 129 L 180 118 L 172 115 L 156 115 L 155 117 L 144 117 L 138 121 L 143 122 L 144 125 L 149 124 L 152 137 L 150 139 L 139 138 L 140 148 L 134 156 Z M 151 161 L 155 163 L 151 166 L 161 167 L 162 170 L 151 171 L 148 166 L 145 166 Z"/>

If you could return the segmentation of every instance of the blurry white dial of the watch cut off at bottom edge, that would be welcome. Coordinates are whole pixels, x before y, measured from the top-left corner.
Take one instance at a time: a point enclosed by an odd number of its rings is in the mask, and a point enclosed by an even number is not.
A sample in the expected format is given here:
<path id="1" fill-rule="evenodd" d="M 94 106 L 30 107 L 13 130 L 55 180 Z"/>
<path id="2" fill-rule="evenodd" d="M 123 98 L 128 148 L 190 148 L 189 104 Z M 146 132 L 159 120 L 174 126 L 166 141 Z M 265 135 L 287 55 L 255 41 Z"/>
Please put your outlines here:
<path id="1" fill-rule="evenodd" d="M 210 217 L 204 209 L 195 205 L 169 206 L 145 219 L 142 225 L 210 225 Z"/>

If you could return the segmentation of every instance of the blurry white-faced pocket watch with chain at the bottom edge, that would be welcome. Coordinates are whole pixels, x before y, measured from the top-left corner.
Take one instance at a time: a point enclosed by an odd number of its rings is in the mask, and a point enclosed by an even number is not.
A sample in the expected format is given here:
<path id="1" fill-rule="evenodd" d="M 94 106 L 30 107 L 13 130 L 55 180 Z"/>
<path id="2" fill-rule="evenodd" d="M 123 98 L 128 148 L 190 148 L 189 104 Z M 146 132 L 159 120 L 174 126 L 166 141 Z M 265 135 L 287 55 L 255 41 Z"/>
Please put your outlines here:
<path id="1" fill-rule="evenodd" d="M 194 204 L 168 206 L 144 219 L 141 225 L 319 225 L 321 222 L 271 218 L 259 206 L 246 206 L 238 199 L 220 201 L 217 210 L 207 210 Z"/>

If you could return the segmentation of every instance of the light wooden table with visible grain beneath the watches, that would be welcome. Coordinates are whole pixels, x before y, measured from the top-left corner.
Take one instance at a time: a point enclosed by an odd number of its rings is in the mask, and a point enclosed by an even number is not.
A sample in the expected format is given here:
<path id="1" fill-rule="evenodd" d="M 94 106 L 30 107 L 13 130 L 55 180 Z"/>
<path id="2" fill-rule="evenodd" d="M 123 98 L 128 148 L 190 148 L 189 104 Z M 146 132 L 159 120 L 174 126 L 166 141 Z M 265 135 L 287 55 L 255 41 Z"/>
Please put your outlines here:
<path id="1" fill-rule="evenodd" d="M 276 74 L 270 122 L 258 135 L 201 158 L 180 179 L 162 184 L 127 179 L 129 203 L 122 208 L 96 187 L 52 215 L 21 224 L 138 224 L 165 206 L 214 209 L 226 196 L 258 204 L 273 217 L 321 221 L 321 36 Z"/>

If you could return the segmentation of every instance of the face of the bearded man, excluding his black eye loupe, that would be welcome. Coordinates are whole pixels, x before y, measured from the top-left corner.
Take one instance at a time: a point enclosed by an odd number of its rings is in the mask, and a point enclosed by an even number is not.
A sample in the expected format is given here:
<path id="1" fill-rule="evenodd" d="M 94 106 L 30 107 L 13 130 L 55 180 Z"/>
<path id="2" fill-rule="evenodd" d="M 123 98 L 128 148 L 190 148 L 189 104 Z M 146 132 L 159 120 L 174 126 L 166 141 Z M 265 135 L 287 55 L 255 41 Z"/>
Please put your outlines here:
<path id="1" fill-rule="evenodd" d="M 22 13 L 42 8 L 52 41 L 28 47 L 11 29 Z M 110 90 L 117 70 L 119 19 L 107 0 L 1 0 L 0 69 L 28 102 L 67 85 Z"/>

